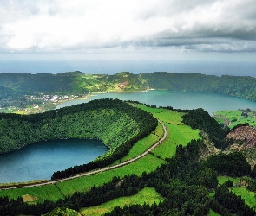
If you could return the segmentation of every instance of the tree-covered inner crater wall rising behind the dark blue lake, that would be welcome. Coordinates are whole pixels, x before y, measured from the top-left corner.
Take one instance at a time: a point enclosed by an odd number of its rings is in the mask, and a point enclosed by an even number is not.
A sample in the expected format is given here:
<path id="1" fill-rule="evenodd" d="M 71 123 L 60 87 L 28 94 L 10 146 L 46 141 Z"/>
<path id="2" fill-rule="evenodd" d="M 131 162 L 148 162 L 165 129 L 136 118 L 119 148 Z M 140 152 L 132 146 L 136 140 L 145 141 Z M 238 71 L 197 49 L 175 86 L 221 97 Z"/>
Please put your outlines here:
<path id="1" fill-rule="evenodd" d="M 94 100 L 33 115 L 0 113 L 0 152 L 67 138 L 97 138 L 115 149 L 145 137 L 156 125 L 151 114 L 117 99 Z"/>

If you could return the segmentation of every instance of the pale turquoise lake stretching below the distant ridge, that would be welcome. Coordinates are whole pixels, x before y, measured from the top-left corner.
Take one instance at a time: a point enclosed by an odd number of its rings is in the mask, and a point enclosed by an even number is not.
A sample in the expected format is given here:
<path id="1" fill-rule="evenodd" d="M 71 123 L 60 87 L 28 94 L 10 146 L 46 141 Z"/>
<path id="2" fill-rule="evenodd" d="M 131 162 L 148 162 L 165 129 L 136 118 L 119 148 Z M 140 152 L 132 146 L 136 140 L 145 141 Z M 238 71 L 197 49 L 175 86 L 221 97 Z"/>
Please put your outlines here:
<path id="1" fill-rule="evenodd" d="M 100 98 L 119 98 L 122 100 L 136 100 L 148 105 L 173 106 L 176 109 L 196 109 L 203 108 L 208 113 L 214 111 L 227 111 L 250 108 L 256 110 L 256 102 L 248 101 L 243 98 L 207 93 L 207 92 L 183 92 L 155 90 L 136 93 L 102 93 L 90 96 L 89 99 L 71 100 L 58 105 L 63 106 L 86 103 L 92 99 Z"/>

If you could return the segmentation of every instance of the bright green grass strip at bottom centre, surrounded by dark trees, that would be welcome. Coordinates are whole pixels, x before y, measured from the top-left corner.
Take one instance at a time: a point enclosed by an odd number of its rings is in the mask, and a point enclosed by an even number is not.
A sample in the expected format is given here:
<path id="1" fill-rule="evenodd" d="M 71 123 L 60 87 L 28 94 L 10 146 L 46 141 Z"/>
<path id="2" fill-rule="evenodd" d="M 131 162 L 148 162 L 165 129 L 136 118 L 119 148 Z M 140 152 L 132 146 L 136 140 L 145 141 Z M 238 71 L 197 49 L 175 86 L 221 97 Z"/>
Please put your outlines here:
<path id="1" fill-rule="evenodd" d="M 143 188 L 138 194 L 128 197 L 121 197 L 114 200 L 110 200 L 106 203 L 103 203 L 99 206 L 91 206 L 87 208 L 82 208 L 80 213 L 82 215 L 102 215 L 104 213 L 108 213 L 112 211 L 115 206 L 129 206 L 133 204 L 143 205 L 144 202 L 148 203 L 149 205 L 158 204 L 163 198 L 160 194 L 158 194 L 154 188 L 146 187 Z"/>

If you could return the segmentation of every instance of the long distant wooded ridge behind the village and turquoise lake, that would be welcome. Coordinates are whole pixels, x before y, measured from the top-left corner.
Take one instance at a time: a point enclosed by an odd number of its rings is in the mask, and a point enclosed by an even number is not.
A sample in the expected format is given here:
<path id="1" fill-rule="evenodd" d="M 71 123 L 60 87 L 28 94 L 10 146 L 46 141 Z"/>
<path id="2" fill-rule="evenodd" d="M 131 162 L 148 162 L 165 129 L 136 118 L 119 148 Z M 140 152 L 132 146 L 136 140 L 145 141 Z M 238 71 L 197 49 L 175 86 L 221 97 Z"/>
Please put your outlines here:
<path id="1" fill-rule="evenodd" d="M 16 94 L 87 94 L 89 92 L 135 92 L 148 89 L 214 92 L 256 101 L 256 78 L 213 76 L 200 73 L 141 73 L 128 72 L 115 75 L 69 72 L 58 74 L 0 73 L 0 86 Z M 0 92 L 3 91 L 0 89 Z M 10 94 L 13 94 L 10 92 Z M 23 98 L 15 96 L 15 104 L 25 107 Z M 8 100 L 10 102 L 10 100 Z M 0 107 L 7 106 L 0 98 Z M 23 103 L 22 103 L 23 102 Z M 42 101 L 41 101 L 42 102 Z M 27 105 L 30 103 L 27 102 Z M 10 103 L 11 105 L 11 103 Z"/>

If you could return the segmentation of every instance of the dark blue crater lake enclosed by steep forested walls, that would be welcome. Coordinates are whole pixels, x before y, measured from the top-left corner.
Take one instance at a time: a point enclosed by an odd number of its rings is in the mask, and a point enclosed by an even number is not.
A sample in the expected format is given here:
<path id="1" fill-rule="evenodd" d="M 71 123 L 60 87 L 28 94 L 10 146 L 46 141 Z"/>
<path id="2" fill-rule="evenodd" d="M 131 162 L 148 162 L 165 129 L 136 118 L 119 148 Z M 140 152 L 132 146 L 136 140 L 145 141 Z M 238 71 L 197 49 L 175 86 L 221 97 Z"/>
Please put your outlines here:
<path id="1" fill-rule="evenodd" d="M 97 140 L 55 140 L 30 144 L 0 156 L 0 182 L 50 179 L 51 175 L 93 161 L 108 148 Z"/>

